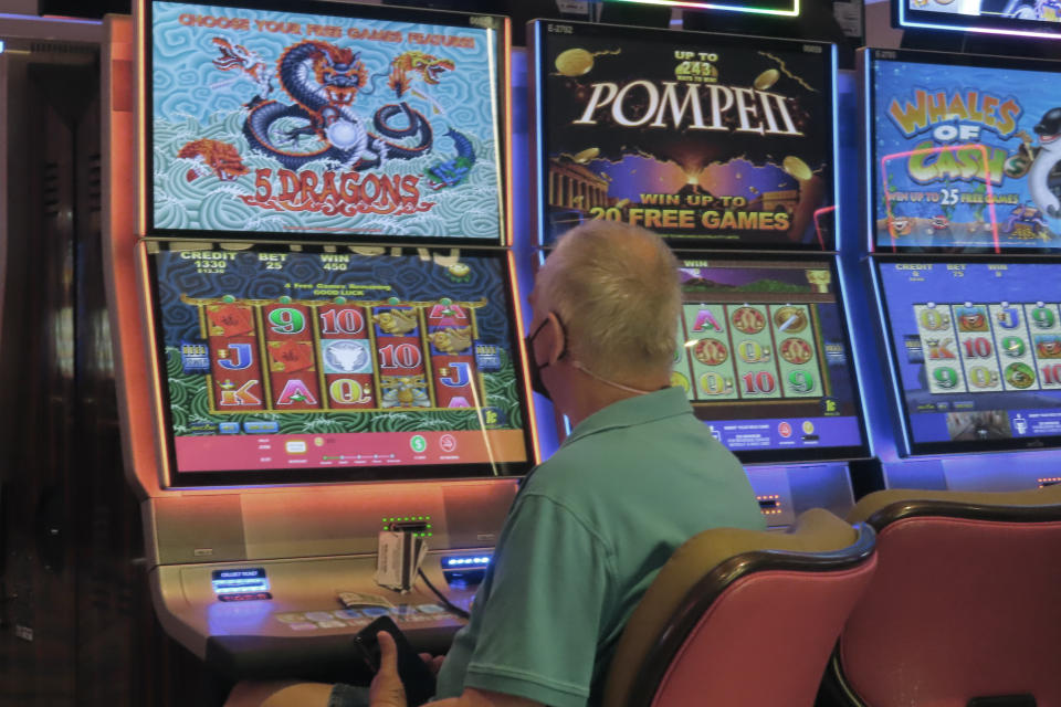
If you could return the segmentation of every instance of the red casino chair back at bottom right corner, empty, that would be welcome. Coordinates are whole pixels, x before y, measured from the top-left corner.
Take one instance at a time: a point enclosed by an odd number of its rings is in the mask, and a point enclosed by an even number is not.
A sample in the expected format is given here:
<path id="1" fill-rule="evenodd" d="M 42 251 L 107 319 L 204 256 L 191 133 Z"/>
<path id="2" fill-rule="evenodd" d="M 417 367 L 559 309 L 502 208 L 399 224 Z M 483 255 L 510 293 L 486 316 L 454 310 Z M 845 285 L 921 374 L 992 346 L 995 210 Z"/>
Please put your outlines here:
<path id="1" fill-rule="evenodd" d="M 878 492 L 848 519 L 878 569 L 820 705 L 1061 705 L 1061 486 Z"/>

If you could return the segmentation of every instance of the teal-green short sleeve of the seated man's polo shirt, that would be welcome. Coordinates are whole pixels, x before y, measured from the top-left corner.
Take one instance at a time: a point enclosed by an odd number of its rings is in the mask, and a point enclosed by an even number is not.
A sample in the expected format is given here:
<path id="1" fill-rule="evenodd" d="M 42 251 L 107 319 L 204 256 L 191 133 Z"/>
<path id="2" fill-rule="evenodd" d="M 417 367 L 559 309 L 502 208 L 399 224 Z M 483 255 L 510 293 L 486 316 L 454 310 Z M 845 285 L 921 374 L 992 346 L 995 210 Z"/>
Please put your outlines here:
<path id="1" fill-rule="evenodd" d="M 581 707 L 614 587 L 606 544 L 561 504 L 529 495 L 510 517 L 494 558 L 464 686 Z"/>

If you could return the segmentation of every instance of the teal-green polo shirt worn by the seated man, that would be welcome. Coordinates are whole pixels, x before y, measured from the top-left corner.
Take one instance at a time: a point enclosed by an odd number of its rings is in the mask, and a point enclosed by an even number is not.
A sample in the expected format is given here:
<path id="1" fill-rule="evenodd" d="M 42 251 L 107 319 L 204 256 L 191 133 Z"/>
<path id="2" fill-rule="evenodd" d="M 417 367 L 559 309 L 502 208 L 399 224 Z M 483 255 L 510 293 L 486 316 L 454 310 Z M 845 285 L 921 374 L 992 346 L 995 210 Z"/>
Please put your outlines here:
<path id="1" fill-rule="evenodd" d="M 599 704 L 619 635 L 659 569 L 718 526 L 766 524 L 740 463 L 681 388 L 587 418 L 516 496 L 438 698 L 475 687 L 550 707 Z"/>

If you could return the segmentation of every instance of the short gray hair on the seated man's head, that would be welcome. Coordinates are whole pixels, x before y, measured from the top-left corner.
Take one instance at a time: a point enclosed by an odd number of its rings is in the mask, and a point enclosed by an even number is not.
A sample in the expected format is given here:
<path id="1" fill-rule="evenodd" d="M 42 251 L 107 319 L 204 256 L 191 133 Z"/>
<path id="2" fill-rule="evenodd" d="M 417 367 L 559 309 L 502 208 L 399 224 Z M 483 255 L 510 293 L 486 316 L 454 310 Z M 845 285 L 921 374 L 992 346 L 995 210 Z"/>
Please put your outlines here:
<path id="1" fill-rule="evenodd" d="M 673 365 L 682 305 L 677 260 L 654 233 L 614 221 L 572 229 L 535 289 L 564 321 L 570 355 L 595 373 L 622 377 Z"/>

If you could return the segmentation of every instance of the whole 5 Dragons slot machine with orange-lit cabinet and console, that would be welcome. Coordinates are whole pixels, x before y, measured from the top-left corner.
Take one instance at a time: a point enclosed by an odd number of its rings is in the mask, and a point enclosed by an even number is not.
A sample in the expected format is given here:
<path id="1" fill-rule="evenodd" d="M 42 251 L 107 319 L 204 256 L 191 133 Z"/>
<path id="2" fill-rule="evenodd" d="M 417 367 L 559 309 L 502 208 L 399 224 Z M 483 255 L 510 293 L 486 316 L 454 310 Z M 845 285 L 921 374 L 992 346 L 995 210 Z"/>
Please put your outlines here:
<path id="1" fill-rule="evenodd" d="M 508 20 L 143 0 L 107 31 L 107 278 L 162 626 L 235 677 L 343 677 L 382 614 L 444 651 L 538 457 Z M 427 541 L 444 595 L 374 581 L 381 530 Z"/>

